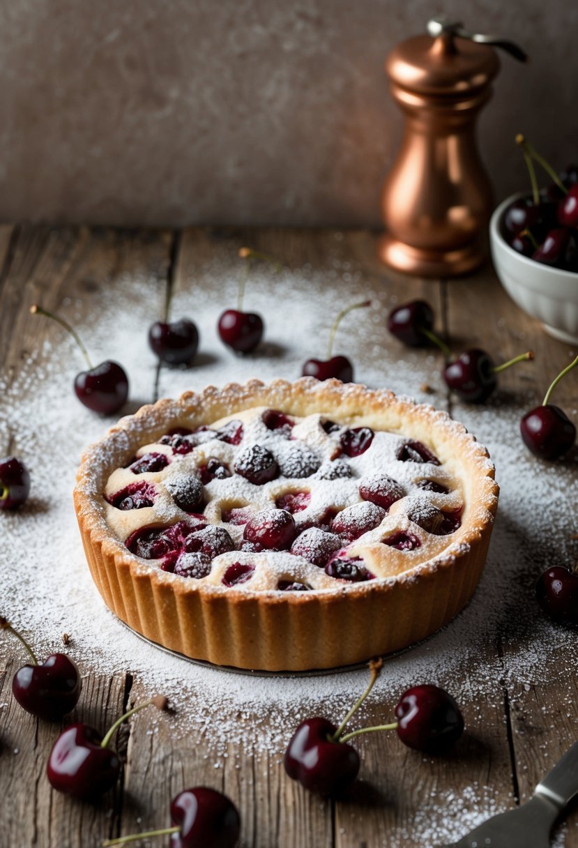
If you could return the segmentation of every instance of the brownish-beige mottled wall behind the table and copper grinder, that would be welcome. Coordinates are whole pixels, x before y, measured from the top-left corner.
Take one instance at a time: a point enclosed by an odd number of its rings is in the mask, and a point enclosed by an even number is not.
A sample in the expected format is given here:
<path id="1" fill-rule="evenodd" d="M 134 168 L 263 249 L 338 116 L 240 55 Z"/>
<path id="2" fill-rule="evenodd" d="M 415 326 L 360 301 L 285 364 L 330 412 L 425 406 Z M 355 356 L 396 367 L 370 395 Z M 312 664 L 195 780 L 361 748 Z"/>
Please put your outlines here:
<path id="1" fill-rule="evenodd" d="M 375 225 L 400 116 L 382 64 L 427 17 L 515 37 L 481 119 L 578 159 L 575 0 L 0 0 L 0 219 Z"/>

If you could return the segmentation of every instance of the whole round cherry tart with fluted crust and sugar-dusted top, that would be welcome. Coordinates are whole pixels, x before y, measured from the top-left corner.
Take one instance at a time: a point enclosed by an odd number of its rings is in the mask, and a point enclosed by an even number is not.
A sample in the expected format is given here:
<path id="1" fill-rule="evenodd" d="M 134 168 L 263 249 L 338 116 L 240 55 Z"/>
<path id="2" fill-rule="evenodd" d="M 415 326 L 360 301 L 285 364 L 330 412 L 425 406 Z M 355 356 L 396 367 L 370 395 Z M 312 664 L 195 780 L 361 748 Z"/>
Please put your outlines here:
<path id="1" fill-rule="evenodd" d="M 303 378 L 123 419 L 86 454 L 75 503 L 97 586 L 132 628 L 197 659 L 299 670 L 447 623 L 480 577 L 497 488 L 442 413 Z"/>

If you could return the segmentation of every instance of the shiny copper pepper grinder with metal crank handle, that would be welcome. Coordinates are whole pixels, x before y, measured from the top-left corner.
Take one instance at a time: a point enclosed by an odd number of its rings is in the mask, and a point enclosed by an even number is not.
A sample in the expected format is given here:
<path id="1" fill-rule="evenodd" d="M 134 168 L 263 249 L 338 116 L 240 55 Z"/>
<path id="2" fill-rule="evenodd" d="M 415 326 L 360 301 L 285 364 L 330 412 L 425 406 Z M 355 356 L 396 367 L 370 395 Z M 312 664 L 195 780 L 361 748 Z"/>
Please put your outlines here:
<path id="1" fill-rule="evenodd" d="M 526 56 L 513 42 L 466 32 L 445 18 L 430 20 L 427 31 L 386 59 L 405 137 L 383 187 L 379 254 L 415 276 L 462 276 L 484 259 L 493 205 L 475 142 L 475 119 L 500 67 L 490 45 L 521 61 Z"/>

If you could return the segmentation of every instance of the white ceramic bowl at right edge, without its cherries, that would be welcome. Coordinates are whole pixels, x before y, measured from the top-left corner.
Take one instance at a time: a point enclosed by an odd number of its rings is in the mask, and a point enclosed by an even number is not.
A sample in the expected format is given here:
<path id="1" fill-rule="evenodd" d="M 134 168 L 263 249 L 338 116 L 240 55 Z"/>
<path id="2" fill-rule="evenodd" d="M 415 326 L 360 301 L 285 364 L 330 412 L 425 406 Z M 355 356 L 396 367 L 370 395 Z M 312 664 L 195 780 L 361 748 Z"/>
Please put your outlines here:
<path id="1" fill-rule="evenodd" d="M 554 338 L 578 344 L 578 274 L 534 262 L 510 248 L 502 236 L 506 209 L 514 194 L 494 209 L 490 220 L 490 249 L 497 276 L 520 309 L 543 322 Z"/>

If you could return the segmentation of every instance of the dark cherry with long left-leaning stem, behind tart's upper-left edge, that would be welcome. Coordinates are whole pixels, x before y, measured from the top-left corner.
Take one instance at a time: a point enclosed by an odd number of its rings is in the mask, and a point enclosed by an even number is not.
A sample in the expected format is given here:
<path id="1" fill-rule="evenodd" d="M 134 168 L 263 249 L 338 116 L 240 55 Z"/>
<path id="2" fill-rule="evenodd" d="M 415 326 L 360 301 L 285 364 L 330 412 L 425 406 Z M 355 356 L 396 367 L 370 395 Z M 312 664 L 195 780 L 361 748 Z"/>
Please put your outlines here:
<path id="1" fill-rule="evenodd" d="M 100 365 L 92 365 L 88 352 L 78 333 L 59 315 L 42 309 L 34 304 L 31 306 L 32 315 L 44 315 L 64 327 L 64 330 L 74 338 L 88 365 L 87 371 L 80 371 L 75 377 L 76 397 L 94 412 L 112 415 L 124 406 L 129 394 L 129 381 L 124 368 L 111 360 L 104 360 Z"/>

